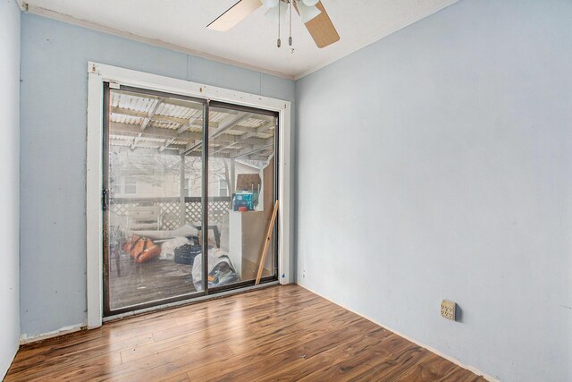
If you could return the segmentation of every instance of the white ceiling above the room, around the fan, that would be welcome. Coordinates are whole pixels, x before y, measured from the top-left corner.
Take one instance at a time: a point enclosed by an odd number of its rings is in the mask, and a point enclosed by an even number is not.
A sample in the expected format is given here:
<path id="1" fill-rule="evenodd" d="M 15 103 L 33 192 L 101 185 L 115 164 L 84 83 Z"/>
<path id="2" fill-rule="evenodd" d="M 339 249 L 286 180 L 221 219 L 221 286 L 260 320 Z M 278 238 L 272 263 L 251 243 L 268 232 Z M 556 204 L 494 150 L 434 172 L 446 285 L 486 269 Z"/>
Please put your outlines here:
<path id="1" fill-rule="evenodd" d="M 288 47 L 285 28 L 282 48 L 276 47 L 278 27 L 264 16 L 264 6 L 227 32 L 206 29 L 210 21 L 236 1 L 26 0 L 25 3 L 31 13 L 298 79 L 458 0 L 322 0 L 341 40 L 319 49 L 298 14 L 294 14 L 293 53 Z"/>

